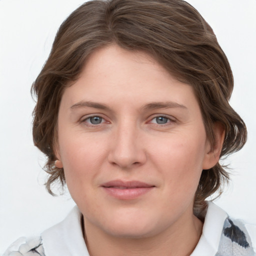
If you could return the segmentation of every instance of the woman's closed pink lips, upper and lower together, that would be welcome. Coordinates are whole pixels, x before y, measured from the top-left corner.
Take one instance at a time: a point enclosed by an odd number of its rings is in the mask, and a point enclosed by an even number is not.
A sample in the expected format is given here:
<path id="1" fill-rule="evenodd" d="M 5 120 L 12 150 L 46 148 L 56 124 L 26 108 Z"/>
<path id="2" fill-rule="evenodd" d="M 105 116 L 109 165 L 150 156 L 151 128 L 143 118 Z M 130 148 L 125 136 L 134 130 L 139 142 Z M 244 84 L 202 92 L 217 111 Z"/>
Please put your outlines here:
<path id="1" fill-rule="evenodd" d="M 112 197 L 129 200 L 142 196 L 155 186 L 137 180 L 123 181 L 118 179 L 103 183 L 101 187 Z"/>

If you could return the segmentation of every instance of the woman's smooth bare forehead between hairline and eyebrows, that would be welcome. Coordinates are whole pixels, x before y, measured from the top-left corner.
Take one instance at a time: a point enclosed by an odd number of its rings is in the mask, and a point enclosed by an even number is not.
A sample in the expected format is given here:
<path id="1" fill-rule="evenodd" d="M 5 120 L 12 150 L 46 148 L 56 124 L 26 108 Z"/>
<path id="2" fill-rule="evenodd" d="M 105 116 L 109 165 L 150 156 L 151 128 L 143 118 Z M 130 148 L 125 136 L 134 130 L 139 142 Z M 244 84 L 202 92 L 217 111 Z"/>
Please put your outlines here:
<path id="1" fill-rule="evenodd" d="M 111 45 L 92 52 L 63 93 L 69 105 L 81 100 L 140 106 L 148 102 L 196 101 L 192 86 L 176 80 L 149 54 Z"/>

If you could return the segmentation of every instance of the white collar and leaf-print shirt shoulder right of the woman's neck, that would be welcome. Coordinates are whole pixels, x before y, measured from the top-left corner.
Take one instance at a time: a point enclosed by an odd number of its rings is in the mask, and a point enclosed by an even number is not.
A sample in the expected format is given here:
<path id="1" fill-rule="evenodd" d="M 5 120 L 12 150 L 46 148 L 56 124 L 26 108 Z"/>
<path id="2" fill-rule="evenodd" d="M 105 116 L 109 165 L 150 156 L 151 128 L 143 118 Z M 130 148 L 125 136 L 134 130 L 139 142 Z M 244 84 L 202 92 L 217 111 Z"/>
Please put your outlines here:
<path id="1" fill-rule="evenodd" d="M 256 226 L 233 219 L 211 201 L 201 214 L 201 237 L 191 256 L 255 256 Z"/>

